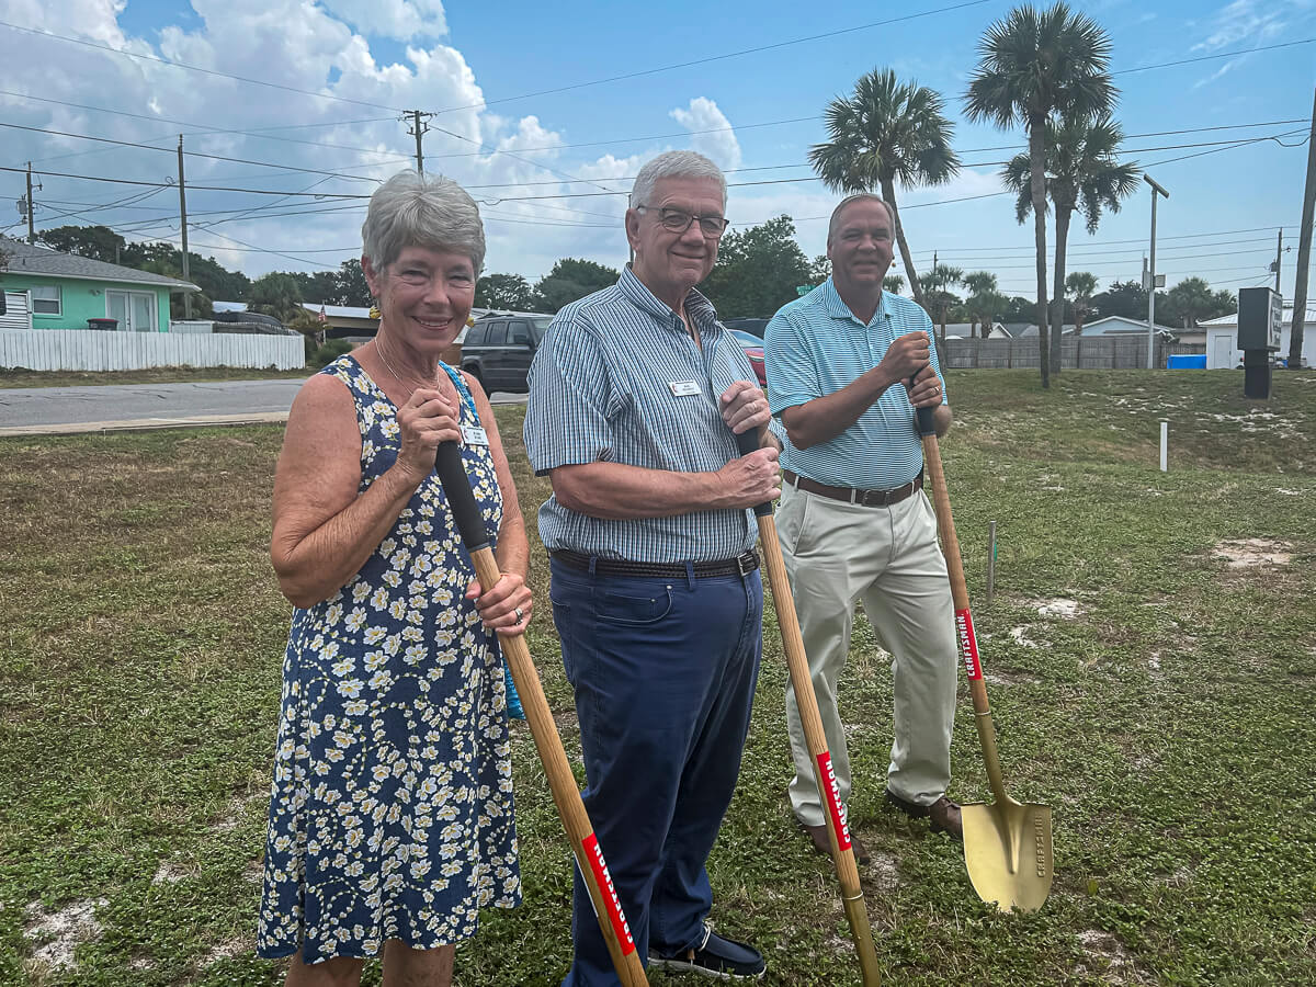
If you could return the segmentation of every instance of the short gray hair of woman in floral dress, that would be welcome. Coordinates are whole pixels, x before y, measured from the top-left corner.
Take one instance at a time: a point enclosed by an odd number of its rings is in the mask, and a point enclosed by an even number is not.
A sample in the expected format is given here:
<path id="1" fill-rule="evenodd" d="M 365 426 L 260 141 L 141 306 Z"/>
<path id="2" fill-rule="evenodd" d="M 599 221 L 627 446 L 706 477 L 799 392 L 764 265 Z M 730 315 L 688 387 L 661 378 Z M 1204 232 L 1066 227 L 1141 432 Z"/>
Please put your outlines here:
<path id="1" fill-rule="evenodd" d="M 370 196 L 362 253 L 383 271 L 409 246 L 450 250 L 484 265 L 484 224 L 475 200 L 451 179 L 399 171 Z"/>

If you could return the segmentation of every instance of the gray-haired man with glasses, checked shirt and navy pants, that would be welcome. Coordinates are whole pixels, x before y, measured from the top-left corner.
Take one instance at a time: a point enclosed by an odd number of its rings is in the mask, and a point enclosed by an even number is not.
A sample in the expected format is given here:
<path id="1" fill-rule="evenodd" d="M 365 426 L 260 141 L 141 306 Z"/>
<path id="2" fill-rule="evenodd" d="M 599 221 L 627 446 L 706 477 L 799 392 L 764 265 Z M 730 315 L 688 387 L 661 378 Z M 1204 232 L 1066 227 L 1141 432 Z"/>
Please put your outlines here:
<path id="1" fill-rule="evenodd" d="M 650 966 L 759 976 L 715 934 L 705 862 L 730 803 L 762 651 L 747 508 L 780 492 L 776 450 L 737 457 L 767 400 L 708 299 L 726 183 L 690 151 L 640 170 L 634 261 L 563 308 L 530 367 L 525 446 L 553 619 L 575 690 L 586 808 Z M 616 984 L 580 875 L 565 984 Z"/>

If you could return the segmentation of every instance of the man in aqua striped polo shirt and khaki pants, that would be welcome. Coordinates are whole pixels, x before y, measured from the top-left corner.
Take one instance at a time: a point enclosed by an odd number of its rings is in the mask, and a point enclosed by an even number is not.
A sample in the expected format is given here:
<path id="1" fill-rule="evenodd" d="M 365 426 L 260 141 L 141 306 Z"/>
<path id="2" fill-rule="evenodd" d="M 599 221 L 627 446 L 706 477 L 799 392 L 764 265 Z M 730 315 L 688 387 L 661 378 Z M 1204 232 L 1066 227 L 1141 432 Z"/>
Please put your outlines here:
<path id="1" fill-rule="evenodd" d="M 953 608 L 915 426 L 915 408 L 936 408 L 937 434 L 945 434 L 950 405 L 932 321 L 882 290 L 894 236 L 878 196 L 842 200 L 828 228 L 832 276 L 769 322 L 767 390 L 784 426 L 775 432 L 786 433 L 776 529 L 841 803 L 849 804 L 851 782 L 837 679 L 862 601 L 892 654 L 887 801 L 958 840 L 959 807 L 946 797 L 958 669 Z M 787 722 L 791 808 L 813 846 L 830 853 L 794 690 Z M 857 840 L 855 855 L 867 859 Z"/>

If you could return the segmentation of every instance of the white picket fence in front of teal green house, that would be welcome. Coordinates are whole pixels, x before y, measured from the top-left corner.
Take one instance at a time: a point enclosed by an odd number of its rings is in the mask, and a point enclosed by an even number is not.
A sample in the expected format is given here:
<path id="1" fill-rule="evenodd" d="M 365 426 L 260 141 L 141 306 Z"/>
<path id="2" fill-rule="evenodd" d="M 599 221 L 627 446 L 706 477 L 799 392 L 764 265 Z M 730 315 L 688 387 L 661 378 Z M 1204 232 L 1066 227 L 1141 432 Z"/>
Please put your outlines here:
<path id="1" fill-rule="evenodd" d="M 0 367 L 146 370 L 147 367 L 305 366 L 300 336 L 117 333 L 97 329 L 0 329 Z"/>

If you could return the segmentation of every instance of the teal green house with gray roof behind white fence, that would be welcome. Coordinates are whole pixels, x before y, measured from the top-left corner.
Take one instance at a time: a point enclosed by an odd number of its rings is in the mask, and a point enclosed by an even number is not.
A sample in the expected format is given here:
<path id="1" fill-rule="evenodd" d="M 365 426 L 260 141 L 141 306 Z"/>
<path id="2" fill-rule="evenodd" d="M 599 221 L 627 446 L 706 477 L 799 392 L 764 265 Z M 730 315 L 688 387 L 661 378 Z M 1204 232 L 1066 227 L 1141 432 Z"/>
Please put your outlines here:
<path id="1" fill-rule="evenodd" d="M 167 333 L 170 295 L 200 291 L 176 278 L 11 237 L 0 237 L 0 290 L 8 303 L 0 328 L 108 329 L 89 320 L 112 318 L 118 332 L 136 333 Z"/>

